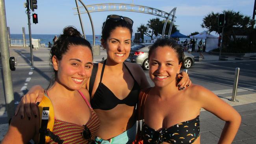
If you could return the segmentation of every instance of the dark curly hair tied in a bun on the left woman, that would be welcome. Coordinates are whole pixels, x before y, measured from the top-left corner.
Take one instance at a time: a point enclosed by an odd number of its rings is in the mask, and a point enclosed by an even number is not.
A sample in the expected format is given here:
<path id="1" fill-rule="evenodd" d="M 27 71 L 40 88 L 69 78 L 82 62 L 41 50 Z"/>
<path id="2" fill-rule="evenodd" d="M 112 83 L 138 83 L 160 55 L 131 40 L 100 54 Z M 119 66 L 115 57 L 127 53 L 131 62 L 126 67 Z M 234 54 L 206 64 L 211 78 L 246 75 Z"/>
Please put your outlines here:
<path id="1" fill-rule="evenodd" d="M 81 33 L 74 26 L 67 26 L 63 29 L 63 34 L 58 37 L 50 50 L 50 63 L 52 63 L 52 57 L 54 55 L 60 61 L 63 55 L 69 51 L 69 47 L 72 45 L 87 46 L 91 50 L 91 54 L 93 55 L 93 50 L 90 42 L 88 42 L 86 39 L 83 39 Z M 56 70 L 54 70 L 54 74 L 54 79 L 52 80 L 56 79 Z"/>

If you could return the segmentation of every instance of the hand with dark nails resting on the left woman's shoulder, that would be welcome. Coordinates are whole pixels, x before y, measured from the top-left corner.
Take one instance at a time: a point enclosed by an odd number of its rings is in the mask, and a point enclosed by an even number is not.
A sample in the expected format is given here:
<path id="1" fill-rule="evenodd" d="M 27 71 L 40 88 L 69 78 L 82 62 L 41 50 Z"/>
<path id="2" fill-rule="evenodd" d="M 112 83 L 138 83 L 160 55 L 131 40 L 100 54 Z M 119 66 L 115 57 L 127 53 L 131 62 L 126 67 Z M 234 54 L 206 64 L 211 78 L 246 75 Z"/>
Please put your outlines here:
<path id="1" fill-rule="evenodd" d="M 32 114 L 39 116 L 37 105 L 42 101 L 44 89 L 40 85 L 33 86 L 21 99 L 15 110 L 15 116 L 24 118 L 24 110 L 28 118 L 33 118 Z"/>

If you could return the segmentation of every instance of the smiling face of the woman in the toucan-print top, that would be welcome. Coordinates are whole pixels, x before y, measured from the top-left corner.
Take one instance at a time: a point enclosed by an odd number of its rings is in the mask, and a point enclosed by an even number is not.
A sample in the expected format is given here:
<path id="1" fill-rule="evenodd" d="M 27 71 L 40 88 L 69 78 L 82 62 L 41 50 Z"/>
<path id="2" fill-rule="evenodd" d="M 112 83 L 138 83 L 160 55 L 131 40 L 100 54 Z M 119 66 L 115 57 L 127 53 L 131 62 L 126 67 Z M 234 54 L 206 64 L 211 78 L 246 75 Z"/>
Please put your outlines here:
<path id="1" fill-rule="evenodd" d="M 149 59 L 149 76 L 156 87 L 176 87 L 176 74 L 180 73 L 177 53 L 170 46 L 158 46 Z"/>

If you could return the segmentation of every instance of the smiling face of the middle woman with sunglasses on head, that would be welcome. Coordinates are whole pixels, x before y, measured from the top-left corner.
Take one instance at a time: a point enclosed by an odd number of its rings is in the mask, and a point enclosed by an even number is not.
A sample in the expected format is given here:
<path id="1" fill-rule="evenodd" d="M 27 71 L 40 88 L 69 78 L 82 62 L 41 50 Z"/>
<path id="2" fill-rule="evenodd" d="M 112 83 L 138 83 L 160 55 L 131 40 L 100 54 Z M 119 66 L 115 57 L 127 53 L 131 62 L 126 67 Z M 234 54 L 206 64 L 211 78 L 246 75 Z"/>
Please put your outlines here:
<path id="1" fill-rule="evenodd" d="M 111 31 L 106 41 L 102 39 L 108 60 L 113 63 L 123 63 L 130 54 L 131 42 L 131 32 L 128 28 L 117 27 Z"/>

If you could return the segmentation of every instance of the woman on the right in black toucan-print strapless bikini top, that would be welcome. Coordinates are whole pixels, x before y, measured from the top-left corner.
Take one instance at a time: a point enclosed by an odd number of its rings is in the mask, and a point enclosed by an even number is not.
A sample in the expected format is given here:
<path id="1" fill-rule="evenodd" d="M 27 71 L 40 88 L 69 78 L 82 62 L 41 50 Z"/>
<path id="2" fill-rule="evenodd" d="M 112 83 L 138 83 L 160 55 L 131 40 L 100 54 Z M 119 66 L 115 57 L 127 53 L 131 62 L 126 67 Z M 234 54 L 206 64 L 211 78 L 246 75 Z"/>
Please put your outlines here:
<path id="1" fill-rule="evenodd" d="M 200 144 L 200 109 L 226 122 L 218 144 L 231 144 L 241 123 L 237 111 L 199 85 L 178 90 L 184 53 L 175 41 L 158 39 L 148 52 L 149 76 L 155 86 L 142 90 L 143 144 Z"/>

